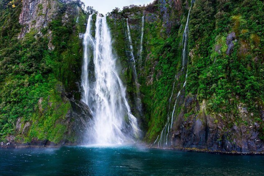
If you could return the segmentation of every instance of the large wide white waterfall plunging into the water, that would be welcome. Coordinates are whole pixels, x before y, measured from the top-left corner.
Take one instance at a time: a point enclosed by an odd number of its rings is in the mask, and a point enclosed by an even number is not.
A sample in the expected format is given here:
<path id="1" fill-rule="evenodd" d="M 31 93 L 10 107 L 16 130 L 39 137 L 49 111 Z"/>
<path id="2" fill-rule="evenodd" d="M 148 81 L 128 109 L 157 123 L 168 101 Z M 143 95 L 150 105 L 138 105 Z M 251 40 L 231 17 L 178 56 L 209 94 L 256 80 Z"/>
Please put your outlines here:
<path id="1" fill-rule="evenodd" d="M 93 115 L 93 125 L 87 132 L 89 143 L 133 142 L 134 137 L 140 136 L 140 130 L 118 76 L 106 17 L 97 15 L 94 38 L 91 29 L 92 15 L 88 18 L 84 35 L 82 67 L 82 101 L 90 107 Z"/>

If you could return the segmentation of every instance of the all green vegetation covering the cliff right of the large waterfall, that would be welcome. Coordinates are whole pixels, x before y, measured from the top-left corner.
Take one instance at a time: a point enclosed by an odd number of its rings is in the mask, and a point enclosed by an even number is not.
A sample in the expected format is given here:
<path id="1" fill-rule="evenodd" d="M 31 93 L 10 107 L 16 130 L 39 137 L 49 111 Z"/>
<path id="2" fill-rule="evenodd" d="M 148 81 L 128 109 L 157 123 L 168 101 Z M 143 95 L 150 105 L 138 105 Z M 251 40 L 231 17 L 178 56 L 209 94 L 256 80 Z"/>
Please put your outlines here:
<path id="1" fill-rule="evenodd" d="M 172 102 L 175 102 L 177 92 L 184 82 L 184 75 L 180 71 L 180 43 L 188 14 L 188 8 L 184 7 L 190 7 L 190 3 L 191 1 L 188 6 L 183 2 L 182 8 L 179 8 L 172 1 L 167 2 L 165 6 L 156 1 L 148 7 L 131 6 L 122 11 L 114 9 L 109 13 L 113 17 L 109 21 L 110 25 L 113 25 L 111 32 L 116 39 L 114 46 L 117 54 L 121 56 L 120 60 L 129 63 L 124 54 L 128 50 L 128 41 L 118 35 L 126 31 L 125 21 L 120 21 L 129 17 L 133 47 L 134 50 L 139 50 L 140 18 L 142 11 L 146 12 L 143 63 L 142 68 L 139 68 L 137 63 L 137 71 L 141 84 L 147 140 L 154 140 L 166 122 L 168 99 L 175 74 L 178 73 L 179 77 L 175 83 Z M 169 18 L 164 14 L 166 9 Z M 190 56 L 187 69 L 184 69 L 188 70 L 186 95 L 197 95 L 200 105 L 205 102 L 207 114 L 233 114 L 236 119 L 228 122 L 230 124 L 248 124 L 253 121 L 263 126 L 259 114 L 264 100 L 263 17 L 263 1 L 260 0 L 196 0 L 193 5 L 189 23 Z M 120 18 L 120 21 L 116 18 Z M 167 20 L 172 21 L 169 29 L 166 28 Z M 234 48 L 232 54 L 227 55 L 226 39 L 232 31 L 236 35 L 233 40 Z M 135 57 L 137 59 L 138 56 Z M 124 67 L 127 68 L 127 74 L 123 74 L 123 79 L 127 80 L 128 92 L 133 97 L 131 69 L 129 65 Z M 173 103 L 170 106 L 173 106 Z M 247 119 L 241 118 L 239 106 L 247 107 L 252 114 L 248 115 Z M 175 117 L 181 108 L 177 105 Z M 191 112 L 185 117 L 191 115 Z"/>

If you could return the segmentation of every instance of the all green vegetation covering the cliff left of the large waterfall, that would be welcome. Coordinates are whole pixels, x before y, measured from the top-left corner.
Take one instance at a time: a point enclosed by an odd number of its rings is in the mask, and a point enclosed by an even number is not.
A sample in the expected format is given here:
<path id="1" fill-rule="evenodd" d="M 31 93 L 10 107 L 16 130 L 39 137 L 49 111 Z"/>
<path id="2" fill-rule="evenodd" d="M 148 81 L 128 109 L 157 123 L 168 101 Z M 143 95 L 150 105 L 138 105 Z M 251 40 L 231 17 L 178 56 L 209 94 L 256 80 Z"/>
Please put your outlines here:
<path id="1" fill-rule="evenodd" d="M 78 35 L 85 31 L 86 15 L 80 10 L 78 24 L 75 14 L 63 24 L 67 8 L 60 3 L 62 11 L 42 29 L 42 35 L 31 30 L 18 40 L 21 5 L 21 1 L 0 4 L 0 140 L 14 135 L 20 142 L 39 139 L 58 143 L 65 139 L 65 117 L 71 109 L 64 87 L 68 93 L 78 91 L 76 82 L 82 63 Z M 76 9 L 75 3 L 70 5 Z M 48 48 L 48 30 L 52 31 L 54 50 Z M 80 97 L 79 93 L 73 94 Z M 18 119 L 20 131 L 16 129 Z M 25 127 L 27 122 L 29 128 Z"/>

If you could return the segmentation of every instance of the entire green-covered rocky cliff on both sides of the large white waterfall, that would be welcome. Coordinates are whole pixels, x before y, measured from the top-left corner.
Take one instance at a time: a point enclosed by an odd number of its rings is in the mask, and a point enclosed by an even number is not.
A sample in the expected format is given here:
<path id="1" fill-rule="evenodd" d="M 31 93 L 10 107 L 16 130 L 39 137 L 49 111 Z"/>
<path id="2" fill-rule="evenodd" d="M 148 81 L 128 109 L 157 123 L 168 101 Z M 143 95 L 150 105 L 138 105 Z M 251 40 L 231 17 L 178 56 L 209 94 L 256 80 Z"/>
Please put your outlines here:
<path id="1" fill-rule="evenodd" d="M 91 115 L 79 102 L 79 83 L 87 14 L 77 6 L 81 2 L 0 4 L 2 144 L 85 140 Z M 263 1 L 196 0 L 187 23 L 190 7 L 189 0 L 156 0 L 108 14 L 113 51 L 143 140 L 161 148 L 263 152 Z"/>

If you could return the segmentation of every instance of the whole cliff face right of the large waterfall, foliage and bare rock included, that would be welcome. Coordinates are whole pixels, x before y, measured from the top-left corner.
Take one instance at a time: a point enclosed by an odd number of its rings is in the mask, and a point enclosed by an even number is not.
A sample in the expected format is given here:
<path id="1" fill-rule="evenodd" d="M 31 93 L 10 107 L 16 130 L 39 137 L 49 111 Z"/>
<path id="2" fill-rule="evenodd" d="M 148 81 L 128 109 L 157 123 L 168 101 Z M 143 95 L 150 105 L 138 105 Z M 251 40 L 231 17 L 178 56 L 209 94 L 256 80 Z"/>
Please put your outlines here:
<path id="1" fill-rule="evenodd" d="M 182 34 L 191 1 L 158 0 L 111 12 L 113 46 L 133 100 L 131 65 L 122 54 L 129 50 L 128 18 L 144 109 L 141 125 L 153 146 L 160 141 L 162 148 L 263 152 L 263 24 L 257 19 L 263 3 L 247 3 L 195 1 L 183 68 Z M 142 16 L 144 50 L 139 63 Z M 172 124 L 168 133 L 163 131 L 166 122 Z M 168 136 L 167 145 L 162 135 Z"/>

